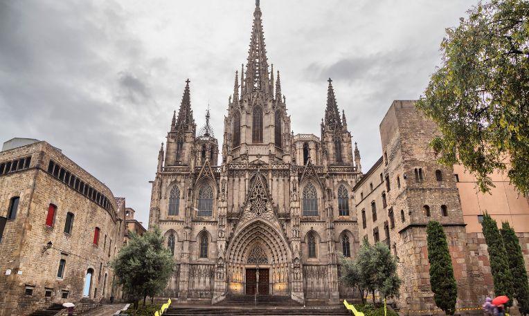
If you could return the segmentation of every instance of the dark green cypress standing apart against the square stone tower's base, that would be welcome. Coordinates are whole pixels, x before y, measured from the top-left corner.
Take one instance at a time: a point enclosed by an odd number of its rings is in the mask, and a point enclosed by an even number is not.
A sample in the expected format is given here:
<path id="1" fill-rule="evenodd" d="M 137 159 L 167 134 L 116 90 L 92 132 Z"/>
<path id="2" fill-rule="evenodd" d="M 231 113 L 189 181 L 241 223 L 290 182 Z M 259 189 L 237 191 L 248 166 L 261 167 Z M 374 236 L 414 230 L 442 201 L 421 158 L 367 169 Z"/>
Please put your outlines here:
<path id="1" fill-rule="evenodd" d="M 428 261 L 430 262 L 430 286 L 438 308 L 447 315 L 456 312 L 458 287 L 448 250 L 447 236 L 437 221 L 427 226 Z"/>

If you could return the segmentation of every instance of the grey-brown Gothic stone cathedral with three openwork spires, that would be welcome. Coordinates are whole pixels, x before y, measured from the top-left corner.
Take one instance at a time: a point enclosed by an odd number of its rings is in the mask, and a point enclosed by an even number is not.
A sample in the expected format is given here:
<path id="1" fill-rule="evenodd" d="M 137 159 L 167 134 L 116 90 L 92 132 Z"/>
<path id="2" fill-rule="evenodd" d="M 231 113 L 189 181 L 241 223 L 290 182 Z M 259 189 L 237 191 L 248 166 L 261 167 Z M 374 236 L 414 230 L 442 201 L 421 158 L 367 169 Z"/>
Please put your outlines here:
<path id="1" fill-rule="evenodd" d="M 321 135 L 294 135 L 256 1 L 222 151 L 209 113 L 197 132 L 190 93 L 186 80 L 152 182 L 149 227 L 161 227 L 177 262 L 164 295 L 216 303 L 237 294 L 300 302 L 350 294 L 338 259 L 359 245 L 352 188 L 361 162 L 332 80 L 325 109 L 322 95 Z"/>

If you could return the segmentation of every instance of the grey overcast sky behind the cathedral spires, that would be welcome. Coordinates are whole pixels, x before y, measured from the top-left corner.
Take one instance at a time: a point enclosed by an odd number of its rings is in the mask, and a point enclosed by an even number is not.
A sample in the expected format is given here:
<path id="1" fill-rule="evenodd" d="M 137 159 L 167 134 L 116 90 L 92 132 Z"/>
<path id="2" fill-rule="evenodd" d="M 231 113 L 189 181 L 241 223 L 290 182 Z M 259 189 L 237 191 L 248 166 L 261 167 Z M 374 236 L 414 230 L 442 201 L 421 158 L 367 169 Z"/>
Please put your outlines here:
<path id="1" fill-rule="evenodd" d="M 416 99 L 445 28 L 472 0 L 262 0 L 294 133 L 319 134 L 327 79 L 367 170 L 379 122 Z M 198 127 L 222 138 L 253 0 L 0 0 L 0 140 L 46 140 L 125 196 L 145 224 L 160 142 L 190 78 Z M 222 139 L 221 139 L 222 141 Z"/>

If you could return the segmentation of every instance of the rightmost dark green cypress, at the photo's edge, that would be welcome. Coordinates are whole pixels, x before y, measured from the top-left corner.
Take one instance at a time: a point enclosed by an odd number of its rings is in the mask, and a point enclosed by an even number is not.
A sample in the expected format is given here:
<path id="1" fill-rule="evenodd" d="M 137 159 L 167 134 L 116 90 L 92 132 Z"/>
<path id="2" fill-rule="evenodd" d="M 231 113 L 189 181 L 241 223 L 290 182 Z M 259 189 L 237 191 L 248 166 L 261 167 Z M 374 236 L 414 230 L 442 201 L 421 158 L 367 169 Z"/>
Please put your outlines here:
<path id="1" fill-rule="evenodd" d="M 527 281 L 526 263 L 523 260 L 518 237 L 514 233 L 509 223 L 501 224 L 501 236 L 503 245 L 507 252 L 509 268 L 512 275 L 512 285 L 514 288 L 514 297 L 518 301 L 518 307 L 522 315 L 529 314 L 529 284 Z"/>

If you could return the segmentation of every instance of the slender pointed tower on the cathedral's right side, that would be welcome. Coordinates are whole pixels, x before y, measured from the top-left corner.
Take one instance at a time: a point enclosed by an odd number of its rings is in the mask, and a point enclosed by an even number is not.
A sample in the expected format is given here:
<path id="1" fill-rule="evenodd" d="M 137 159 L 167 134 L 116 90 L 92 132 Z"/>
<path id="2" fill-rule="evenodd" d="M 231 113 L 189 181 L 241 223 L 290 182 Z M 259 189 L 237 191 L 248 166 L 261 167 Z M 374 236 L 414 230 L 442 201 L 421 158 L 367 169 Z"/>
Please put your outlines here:
<path id="1" fill-rule="evenodd" d="M 346 113 L 340 117 L 332 80 L 328 80 L 327 105 L 321 124 L 321 146 L 328 155 L 330 165 L 354 165 L 352 156 L 351 133 L 347 129 Z"/>

